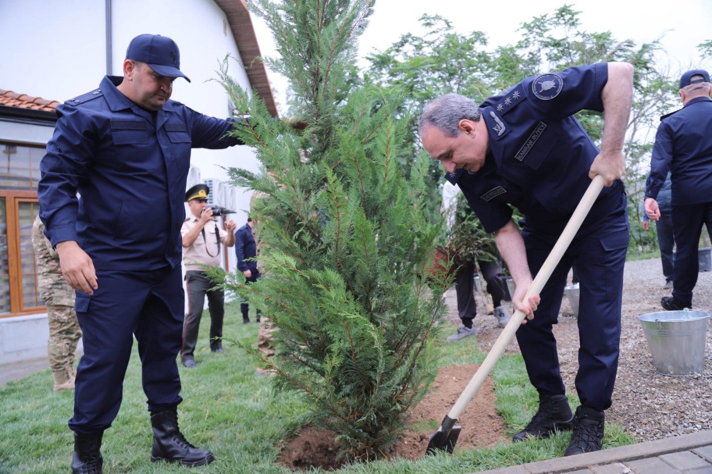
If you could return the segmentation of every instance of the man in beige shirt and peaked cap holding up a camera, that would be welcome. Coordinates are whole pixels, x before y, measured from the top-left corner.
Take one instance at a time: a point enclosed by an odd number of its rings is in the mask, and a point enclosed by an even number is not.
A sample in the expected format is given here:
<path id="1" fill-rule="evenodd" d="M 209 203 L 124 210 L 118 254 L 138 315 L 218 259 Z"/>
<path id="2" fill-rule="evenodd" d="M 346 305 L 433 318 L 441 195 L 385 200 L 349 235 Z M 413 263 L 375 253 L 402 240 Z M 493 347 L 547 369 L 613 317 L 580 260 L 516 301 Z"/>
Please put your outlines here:
<path id="1" fill-rule="evenodd" d="M 183 237 L 183 263 L 188 293 L 188 315 L 183 323 L 180 358 L 188 368 L 198 367 L 194 351 L 206 295 L 210 310 L 210 350 L 225 352 L 219 339 L 222 337 L 225 295 L 222 288 L 213 288 L 215 283 L 207 275 L 203 265 L 220 266 L 220 244 L 234 246 L 236 224 L 230 220 L 226 222 L 225 230 L 218 227 L 213 216 L 219 213 L 208 207 L 209 192 L 210 189 L 205 184 L 196 184 L 188 189 L 185 200 L 188 201 L 190 215 L 185 218 L 180 231 Z"/>

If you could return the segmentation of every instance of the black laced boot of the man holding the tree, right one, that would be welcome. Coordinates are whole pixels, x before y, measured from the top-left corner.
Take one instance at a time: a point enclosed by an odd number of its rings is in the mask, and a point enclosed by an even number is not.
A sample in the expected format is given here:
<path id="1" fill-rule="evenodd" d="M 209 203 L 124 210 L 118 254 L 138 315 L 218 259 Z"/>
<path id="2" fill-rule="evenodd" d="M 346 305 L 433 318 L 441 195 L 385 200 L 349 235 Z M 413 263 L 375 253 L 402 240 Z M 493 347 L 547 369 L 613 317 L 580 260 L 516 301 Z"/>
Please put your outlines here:
<path id="1" fill-rule="evenodd" d="M 178 412 L 175 406 L 151 414 L 153 428 L 153 448 L 151 460 L 169 463 L 180 462 L 188 468 L 212 463 L 213 453 L 198 449 L 186 441 L 178 428 Z"/>

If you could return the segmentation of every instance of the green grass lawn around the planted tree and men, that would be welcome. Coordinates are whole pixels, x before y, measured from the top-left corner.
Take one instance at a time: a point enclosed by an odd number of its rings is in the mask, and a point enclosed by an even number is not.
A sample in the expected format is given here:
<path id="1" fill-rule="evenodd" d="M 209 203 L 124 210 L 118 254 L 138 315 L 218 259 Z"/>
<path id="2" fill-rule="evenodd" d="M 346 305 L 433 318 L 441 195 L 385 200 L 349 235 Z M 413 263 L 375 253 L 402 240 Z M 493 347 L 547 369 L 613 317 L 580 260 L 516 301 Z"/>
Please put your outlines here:
<path id="1" fill-rule="evenodd" d="M 254 321 L 254 317 L 251 316 Z M 214 463 L 197 473 L 289 473 L 274 460 L 279 444 L 309 421 L 299 394 L 274 394 L 269 377 L 254 375 L 255 363 L 238 347 L 225 344 L 226 354 L 208 346 L 209 315 L 201 321 L 196 349 L 197 369 L 180 367 L 183 403 L 179 423 L 188 441 L 209 448 Z M 242 324 L 239 304 L 226 304 L 224 335 L 256 345 L 257 325 Z M 446 334 L 439 336 L 444 342 Z M 135 349 L 135 347 L 134 347 Z M 475 339 L 442 344 L 442 365 L 482 362 Z M 527 423 L 537 408 L 518 355 L 505 355 L 493 370 L 498 410 L 511 433 Z M 575 398 L 570 400 L 577 405 Z M 67 427 L 73 392 L 52 391 L 49 370 L 0 389 L 0 473 L 61 473 L 70 469 L 73 436 Z M 437 423 L 451 407 L 436 414 Z M 441 453 L 417 462 L 378 461 L 350 465 L 338 473 L 471 473 L 563 455 L 569 434 L 527 443 L 500 443 L 494 448 Z M 607 425 L 604 448 L 634 443 L 618 426 Z M 124 383 L 124 399 L 113 426 L 104 433 L 102 454 L 106 473 L 186 473 L 179 465 L 151 463 L 150 418 L 141 389 L 138 355 L 132 355 Z"/>

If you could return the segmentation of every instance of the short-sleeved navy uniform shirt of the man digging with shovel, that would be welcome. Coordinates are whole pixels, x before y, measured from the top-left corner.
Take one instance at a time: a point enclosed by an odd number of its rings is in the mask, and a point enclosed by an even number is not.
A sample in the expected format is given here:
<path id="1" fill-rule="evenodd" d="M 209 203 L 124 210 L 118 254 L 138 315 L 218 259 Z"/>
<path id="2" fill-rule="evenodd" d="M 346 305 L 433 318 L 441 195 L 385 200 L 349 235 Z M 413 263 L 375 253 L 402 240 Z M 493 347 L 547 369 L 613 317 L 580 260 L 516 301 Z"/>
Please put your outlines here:
<path id="1" fill-rule="evenodd" d="M 488 232 L 512 216 L 512 204 L 525 226 L 540 233 L 563 231 L 591 183 L 588 172 L 599 149 L 572 115 L 603 110 L 601 92 L 606 63 L 567 68 L 561 73 L 526 78 L 481 105 L 490 152 L 475 174 L 447 174 L 458 184 Z M 604 188 L 580 233 L 619 209 L 622 181 Z"/>

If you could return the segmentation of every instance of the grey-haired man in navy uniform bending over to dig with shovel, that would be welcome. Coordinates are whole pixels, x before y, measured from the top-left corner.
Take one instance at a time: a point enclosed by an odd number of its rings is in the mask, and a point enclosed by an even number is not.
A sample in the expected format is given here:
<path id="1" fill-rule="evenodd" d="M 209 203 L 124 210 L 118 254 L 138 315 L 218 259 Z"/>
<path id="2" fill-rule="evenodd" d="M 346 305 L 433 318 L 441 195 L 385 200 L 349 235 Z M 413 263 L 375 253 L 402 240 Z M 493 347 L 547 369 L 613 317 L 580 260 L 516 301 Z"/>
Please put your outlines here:
<path id="1" fill-rule="evenodd" d="M 527 315 L 517 340 L 539 409 L 514 441 L 572 428 L 565 455 L 602 448 L 604 410 L 612 404 L 629 236 L 619 178 L 632 85 L 629 63 L 584 65 L 526 78 L 479 107 L 462 95 L 444 95 L 419 120 L 425 149 L 460 186 L 485 230 L 495 233 L 516 285 L 513 304 Z M 604 112 L 600 151 L 573 117 L 584 109 Z M 606 187 L 541 294 L 523 301 L 596 175 Z M 524 216 L 521 233 L 510 204 Z M 572 264 L 581 283 L 575 415 L 552 332 Z"/>

